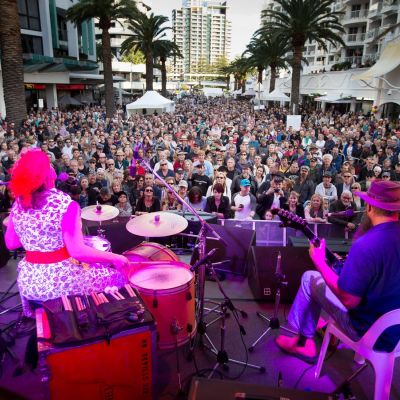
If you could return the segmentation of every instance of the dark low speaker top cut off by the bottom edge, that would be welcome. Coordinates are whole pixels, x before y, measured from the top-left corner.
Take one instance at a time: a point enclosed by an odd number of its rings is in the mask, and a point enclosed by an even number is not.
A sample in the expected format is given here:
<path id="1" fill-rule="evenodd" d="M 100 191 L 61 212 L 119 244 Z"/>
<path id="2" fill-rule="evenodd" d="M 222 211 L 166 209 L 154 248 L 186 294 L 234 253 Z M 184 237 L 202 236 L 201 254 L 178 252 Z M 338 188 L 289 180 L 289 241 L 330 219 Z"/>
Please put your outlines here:
<path id="1" fill-rule="evenodd" d="M 303 392 L 302 390 L 268 387 L 252 383 L 221 379 L 193 378 L 190 385 L 191 400 L 332 400 L 329 393 Z"/>

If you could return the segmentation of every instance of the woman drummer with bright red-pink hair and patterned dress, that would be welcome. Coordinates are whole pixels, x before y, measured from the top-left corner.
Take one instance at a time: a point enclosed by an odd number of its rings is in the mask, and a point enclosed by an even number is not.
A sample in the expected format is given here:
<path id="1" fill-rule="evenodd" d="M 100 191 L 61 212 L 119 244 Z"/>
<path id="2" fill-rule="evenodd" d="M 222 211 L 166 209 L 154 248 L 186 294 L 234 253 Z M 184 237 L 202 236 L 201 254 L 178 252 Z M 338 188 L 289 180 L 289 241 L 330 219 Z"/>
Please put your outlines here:
<path id="1" fill-rule="evenodd" d="M 56 174 L 48 156 L 29 150 L 15 163 L 10 189 L 15 196 L 5 235 L 9 249 L 23 247 L 18 287 L 25 316 L 33 317 L 28 300 L 99 292 L 122 286 L 128 259 L 88 247 L 83 242 L 80 207 L 55 189 Z M 84 268 L 73 262 L 96 264 Z"/>

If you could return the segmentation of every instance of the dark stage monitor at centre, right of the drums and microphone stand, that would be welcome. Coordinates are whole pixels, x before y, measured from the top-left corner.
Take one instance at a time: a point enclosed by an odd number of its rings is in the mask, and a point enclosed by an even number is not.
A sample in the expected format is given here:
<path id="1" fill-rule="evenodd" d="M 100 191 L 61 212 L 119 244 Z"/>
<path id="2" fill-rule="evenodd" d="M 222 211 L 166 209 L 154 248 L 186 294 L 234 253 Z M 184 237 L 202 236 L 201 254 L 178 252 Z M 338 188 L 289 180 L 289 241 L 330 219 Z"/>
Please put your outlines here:
<path id="1" fill-rule="evenodd" d="M 256 243 L 256 233 L 249 229 L 226 227 L 212 224 L 216 232 L 227 242 L 225 246 L 222 241 L 207 239 L 206 251 L 217 249 L 212 262 L 228 260 L 226 265 L 218 267 L 219 270 L 236 275 L 247 274 L 247 263 L 250 247 Z M 207 237 L 212 236 L 211 233 Z"/>

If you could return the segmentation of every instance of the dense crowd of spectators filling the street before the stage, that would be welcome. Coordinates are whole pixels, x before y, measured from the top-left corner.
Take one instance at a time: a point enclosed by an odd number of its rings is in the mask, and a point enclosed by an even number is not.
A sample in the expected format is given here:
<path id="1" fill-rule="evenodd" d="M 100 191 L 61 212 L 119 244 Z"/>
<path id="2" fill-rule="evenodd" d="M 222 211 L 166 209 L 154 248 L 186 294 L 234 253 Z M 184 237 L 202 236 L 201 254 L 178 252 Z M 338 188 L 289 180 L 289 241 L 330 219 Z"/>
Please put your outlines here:
<path id="1" fill-rule="evenodd" d="M 179 210 L 182 204 L 139 160 L 145 159 L 179 197 L 218 218 L 274 218 L 286 208 L 310 222 L 348 230 L 360 210 L 353 195 L 376 179 L 400 180 L 400 127 L 361 113 L 303 109 L 300 130 L 286 126 L 287 110 L 253 111 L 245 100 L 188 96 L 176 111 L 106 119 L 102 108 L 31 113 L 22 127 L 1 121 L 0 180 L 21 152 L 41 148 L 57 186 L 81 208 L 110 204 L 120 215 Z M 12 195 L 0 186 L 0 210 Z"/>

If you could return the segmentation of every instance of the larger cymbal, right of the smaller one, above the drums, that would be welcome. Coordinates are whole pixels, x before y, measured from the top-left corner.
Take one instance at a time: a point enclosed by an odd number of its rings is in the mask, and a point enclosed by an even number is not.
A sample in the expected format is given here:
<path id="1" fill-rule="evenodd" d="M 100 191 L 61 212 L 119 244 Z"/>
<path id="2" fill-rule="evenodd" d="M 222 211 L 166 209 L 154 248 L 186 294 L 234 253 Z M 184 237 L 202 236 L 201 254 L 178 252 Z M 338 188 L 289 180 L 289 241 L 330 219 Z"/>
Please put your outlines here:
<path id="1" fill-rule="evenodd" d="M 186 229 L 187 226 L 187 220 L 180 215 L 160 211 L 131 219 L 126 224 L 126 229 L 138 236 L 164 237 L 176 235 Z"/>

